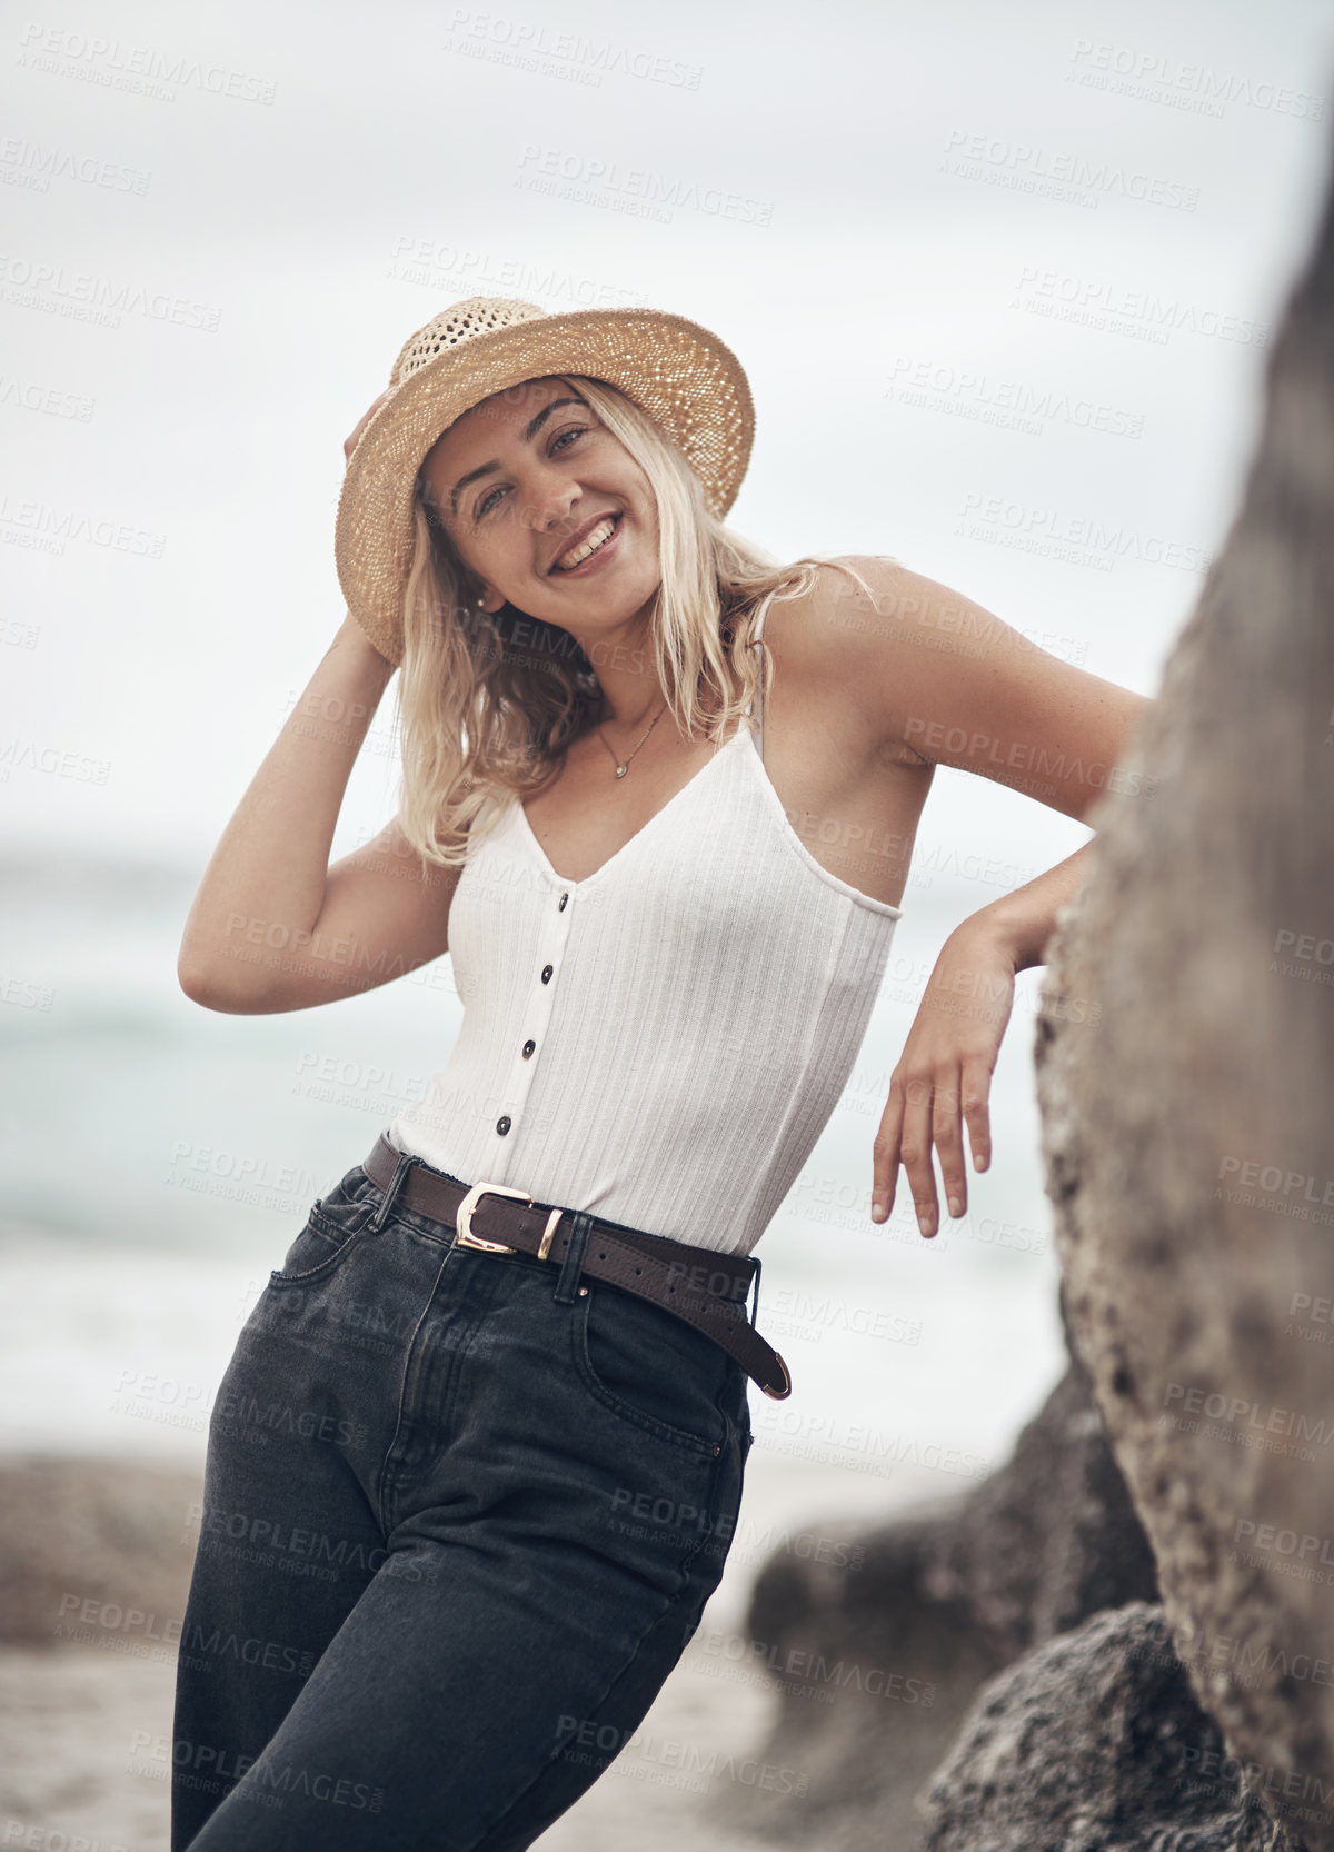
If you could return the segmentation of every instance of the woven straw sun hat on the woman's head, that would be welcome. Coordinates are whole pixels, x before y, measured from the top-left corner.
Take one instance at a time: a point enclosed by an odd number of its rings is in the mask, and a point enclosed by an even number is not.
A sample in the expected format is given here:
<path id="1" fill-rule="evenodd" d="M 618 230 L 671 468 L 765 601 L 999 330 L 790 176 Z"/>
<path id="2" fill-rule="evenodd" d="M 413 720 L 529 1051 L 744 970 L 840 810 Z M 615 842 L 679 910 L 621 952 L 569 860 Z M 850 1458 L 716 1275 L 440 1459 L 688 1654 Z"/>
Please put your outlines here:
<path id="1" fill-rule="evenodd" d="M 585 374 L 621 387 L 686 454 L 721 519 L 750 459 L 754 404 L 717 335 L 656 309 L 571 309 L 469 296 L 419 328 L 389 374 L 343 478 L 334 554 L 348 611 L 402 663 L 402 600 L 413 552 L 413 480 L 456 419 L 510 385 Z"/>

